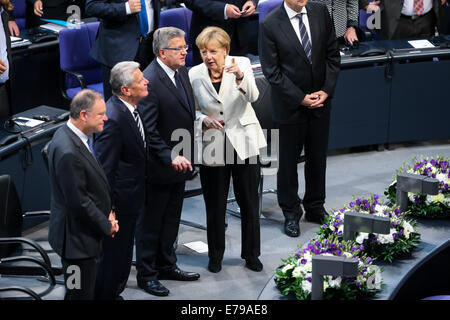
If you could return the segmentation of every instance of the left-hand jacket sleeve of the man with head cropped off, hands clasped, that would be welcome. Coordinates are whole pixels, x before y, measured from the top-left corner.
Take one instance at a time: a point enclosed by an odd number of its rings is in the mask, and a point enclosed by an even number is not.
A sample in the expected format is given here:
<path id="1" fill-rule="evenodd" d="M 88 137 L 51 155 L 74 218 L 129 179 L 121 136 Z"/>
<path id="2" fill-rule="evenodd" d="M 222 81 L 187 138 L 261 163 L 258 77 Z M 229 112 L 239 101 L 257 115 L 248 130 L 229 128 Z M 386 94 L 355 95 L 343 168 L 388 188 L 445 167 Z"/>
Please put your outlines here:
<path id="1" fill-rule="evenodd" d="M 276 33 L 278 31 L 264 23 L 264 20 L 259 24 L 259 58 L 262 71 L 272 86 L 284 96 L 289 97 L 289 100 L 298 101 L 297 106 L 300 106 L 306 94 L 281 71 L 277 49 L 279 35 Z"/>

